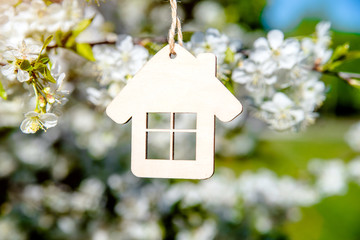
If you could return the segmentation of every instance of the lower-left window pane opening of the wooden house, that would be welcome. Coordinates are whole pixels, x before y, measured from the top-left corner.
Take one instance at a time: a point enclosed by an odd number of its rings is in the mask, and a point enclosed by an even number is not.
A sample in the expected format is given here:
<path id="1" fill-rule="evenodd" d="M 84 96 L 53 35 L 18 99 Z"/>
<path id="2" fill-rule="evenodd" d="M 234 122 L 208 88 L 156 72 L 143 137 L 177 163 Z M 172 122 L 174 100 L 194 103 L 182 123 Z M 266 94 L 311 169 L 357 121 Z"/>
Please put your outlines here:
<path id="1" fill-rule="evenodd" d="M 170 133 L 146 133 L 146 159 L 170 159 Z"/>

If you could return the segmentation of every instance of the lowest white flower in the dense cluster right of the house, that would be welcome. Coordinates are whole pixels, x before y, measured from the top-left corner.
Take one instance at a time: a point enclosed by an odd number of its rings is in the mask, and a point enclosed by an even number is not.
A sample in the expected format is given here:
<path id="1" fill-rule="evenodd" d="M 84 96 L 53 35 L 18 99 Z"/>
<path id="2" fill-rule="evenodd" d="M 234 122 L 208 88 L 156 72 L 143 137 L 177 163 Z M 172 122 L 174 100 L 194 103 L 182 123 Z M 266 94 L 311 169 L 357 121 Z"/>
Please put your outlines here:
<path id="1" fill-rule="evenodd" d="M 278 92 L 271 101 L 261 106 L 262 117 L 276 130 L 289 130 L 304 120 L 304 111 L 297 109 L 294 102 L 284 93 Z"/>

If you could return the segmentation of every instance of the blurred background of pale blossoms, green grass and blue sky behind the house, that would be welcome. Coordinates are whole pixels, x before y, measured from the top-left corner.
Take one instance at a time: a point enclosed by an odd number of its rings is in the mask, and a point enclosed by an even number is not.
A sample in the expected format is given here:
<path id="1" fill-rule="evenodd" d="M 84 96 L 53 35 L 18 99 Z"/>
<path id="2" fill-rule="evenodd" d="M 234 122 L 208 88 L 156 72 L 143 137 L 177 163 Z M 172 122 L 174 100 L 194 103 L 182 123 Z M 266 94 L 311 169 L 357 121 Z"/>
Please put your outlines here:
<path id="1" fill-rule="evenodd" d="M 166 39 L 168 1 L 96 8 L 109 31 Z M 251 47 L 270 29 L 298 37 L 328 20 L 332 48 L 360 50 L 357 0 L 182 0 L 178 8 L 185 37 L 217 28 Z M 341 68 L 360 73 L 359 64 Z M 360 239 L 360 92 L 345 81 L 323 76 L 326 101 L 302 132 L 252 117 L 217 121 L 215 175 L 188 181 L 134 177 L 131 123 L 112 123 L 72 74 L 77 87 L 55 128 L 26 135 L 0 116 L 1 240 Z"/>

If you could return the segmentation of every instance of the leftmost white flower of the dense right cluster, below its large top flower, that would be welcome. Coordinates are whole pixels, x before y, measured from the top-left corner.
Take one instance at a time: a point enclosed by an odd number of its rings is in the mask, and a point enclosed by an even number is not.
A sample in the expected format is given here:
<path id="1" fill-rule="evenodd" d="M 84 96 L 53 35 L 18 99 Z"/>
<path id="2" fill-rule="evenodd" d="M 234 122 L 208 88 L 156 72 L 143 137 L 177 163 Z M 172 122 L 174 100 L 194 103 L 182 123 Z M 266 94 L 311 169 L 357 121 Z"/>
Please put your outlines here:
<path id="1" fill-rule="evenodd" d="M 240 84 L 246 84 L 248 91 L 263 90 L 266 85 L 276 82 L 276 76 L 272 75 L 276 70 L 274 62 L 265 61 L 262 63 L 246 59 L 240 68 L 232 73 L 232 79 Z"/>

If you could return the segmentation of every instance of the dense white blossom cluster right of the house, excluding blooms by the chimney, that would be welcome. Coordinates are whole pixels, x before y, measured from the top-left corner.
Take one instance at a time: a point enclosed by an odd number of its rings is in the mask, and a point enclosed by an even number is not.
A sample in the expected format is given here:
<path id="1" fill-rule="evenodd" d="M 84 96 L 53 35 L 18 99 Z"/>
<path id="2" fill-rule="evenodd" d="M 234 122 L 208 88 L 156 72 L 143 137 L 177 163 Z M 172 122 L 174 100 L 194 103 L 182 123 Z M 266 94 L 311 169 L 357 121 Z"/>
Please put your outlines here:
<path id="1" fill-rule="evenodd" d="M 279 30 L 259 38 L 232 73 L 244 85 L 256 115 L 276 130 L 312 124 L 325 100 L 319 69 L 331 57 L 330 23 L 320 22 L 313 38 L 284 39 Z"/>

